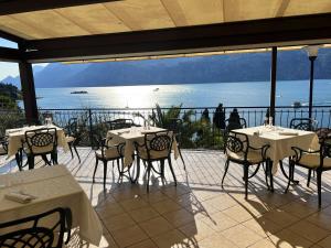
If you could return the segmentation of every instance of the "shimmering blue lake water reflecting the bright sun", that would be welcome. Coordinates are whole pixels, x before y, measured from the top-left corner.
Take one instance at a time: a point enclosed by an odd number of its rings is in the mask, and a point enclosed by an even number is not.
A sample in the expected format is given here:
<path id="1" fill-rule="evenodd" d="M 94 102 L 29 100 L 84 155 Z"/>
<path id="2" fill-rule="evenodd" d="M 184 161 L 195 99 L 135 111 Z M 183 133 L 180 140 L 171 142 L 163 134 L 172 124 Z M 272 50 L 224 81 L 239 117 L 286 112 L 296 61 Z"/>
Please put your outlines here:
<path id="1" fill-rule="evenodd" d="M 88 94 L 73 95 L 71 91 Z M 314 105 L 331 105 L 331 80 L 314 82 Z M 38 88 L 39 108 L 148 108 L 183 104 L 183 107 L 268 106 L 270 83 Z M 277 82 L 277 106 L 308 103 L 309 82 Z"/>

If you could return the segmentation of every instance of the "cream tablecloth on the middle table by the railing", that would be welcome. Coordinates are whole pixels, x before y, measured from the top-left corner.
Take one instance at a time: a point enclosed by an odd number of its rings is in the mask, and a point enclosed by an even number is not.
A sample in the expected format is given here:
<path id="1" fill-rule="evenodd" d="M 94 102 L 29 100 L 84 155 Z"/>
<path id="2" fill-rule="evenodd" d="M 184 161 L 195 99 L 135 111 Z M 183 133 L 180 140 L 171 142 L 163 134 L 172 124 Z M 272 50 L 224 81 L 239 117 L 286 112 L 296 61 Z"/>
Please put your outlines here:
<path id="1" fill-rule="evenodd" d="M 157 127 L 150 127 L 149 130 L 143 129 L 143 127 L 134 127 L 134 128 L 110 130 L 107 132 L 107 139 L 111 138 L 111 142 L 115 144 L 120 143 L 120 142 L 126 143 L 124 163 L 125 163 L 125 166 L 128 166 L 132 163 L 132 153 L 135 151 L 135 142 L 142 143 L 145 133 L 158 132 L 158 131 L 167 131 L 167 130 L 162 129 L 162 128 L 157 128 Z M 172 142 L 172 151 L 173 151 L 174 159 L 177 160 L 179 157 L 179 151 L 178 151 L 178 144 L 177 144 L 175 139 L 173 139 L 173 142 Z"/>

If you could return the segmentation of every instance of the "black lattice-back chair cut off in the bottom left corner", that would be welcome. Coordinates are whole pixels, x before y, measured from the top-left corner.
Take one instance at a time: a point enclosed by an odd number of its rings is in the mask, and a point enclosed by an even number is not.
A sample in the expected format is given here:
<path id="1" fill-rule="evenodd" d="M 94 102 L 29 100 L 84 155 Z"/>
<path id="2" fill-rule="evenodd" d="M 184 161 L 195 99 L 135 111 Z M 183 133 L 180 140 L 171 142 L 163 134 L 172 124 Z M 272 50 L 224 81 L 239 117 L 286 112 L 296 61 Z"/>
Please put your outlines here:
<path id="1" fill-rule="evenodd" d="M 47 225 L 45 220 L 47 220 Z M 63 244 L 70 241 L 71 229 L 71 209 L 58 207 L 39 215 L 0 223 L 0 247 L 62 248 Z"/>

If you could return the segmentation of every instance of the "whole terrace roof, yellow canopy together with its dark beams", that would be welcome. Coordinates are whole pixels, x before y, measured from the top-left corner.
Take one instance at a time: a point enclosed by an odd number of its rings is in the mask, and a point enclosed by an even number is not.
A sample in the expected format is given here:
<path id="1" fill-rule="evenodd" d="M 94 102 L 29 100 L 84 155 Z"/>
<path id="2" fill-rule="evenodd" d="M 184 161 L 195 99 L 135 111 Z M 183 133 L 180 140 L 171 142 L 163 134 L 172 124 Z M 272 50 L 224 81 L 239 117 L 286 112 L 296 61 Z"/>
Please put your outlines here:
<path id="1" fill-rule="evenodd" d="M 0 0 L 0 36 L 30 62 L 331 43 L 331 1 Z"/>

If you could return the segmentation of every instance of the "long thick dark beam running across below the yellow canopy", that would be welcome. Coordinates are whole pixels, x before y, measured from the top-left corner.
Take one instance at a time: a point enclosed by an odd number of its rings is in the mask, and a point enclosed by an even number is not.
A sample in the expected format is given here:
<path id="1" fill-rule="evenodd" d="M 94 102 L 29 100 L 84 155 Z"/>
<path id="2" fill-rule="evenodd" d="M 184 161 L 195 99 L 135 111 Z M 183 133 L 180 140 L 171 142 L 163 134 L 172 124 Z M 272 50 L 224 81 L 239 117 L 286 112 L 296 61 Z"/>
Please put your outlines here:
<path id="1" fill-rule="evenodd" d="M 320 35 L 316 30 L 322 30 Z M 93 50 L 97 46 L 117 46 L 117 45 L 136 45 L 152 44 L 157 42 L 172 42 L 175 46 L 177 43 L 184 41 L 206 41 L 215 40 L 220 44 L 224 45 L 224 39 L 242 36 L 243 43 L 256 44 L 260 43 L 260 39 L 268 36 L 268 40 L 273 40 L 274 33 L 284 33 L 281 40 L 292 41 L 293 35 L 298 41 L 309 39 L 309 32 L 311 37 L 320 36 L 331 37 L 331 13 L 327 14 L 313 14 L 289 18 L 275 18 L 265 20 L 242 21 L 232 23 L 218 23 L 207 25 L 195 26 L 181 26 L 163 30 L 149 30 L 149 31 L 136 31 L 124 32 L 114 34 L 97 34 L 97 35 L 84 35 L 60 39 L 45 39 L 45 40 L 30 40 L 25 45 L 28 50 L 81 50 L 84 54 L 85 50 Z M 329 32 L 329 34 L 328 34 Z M 292 33 L 292 34 L 291 34 Z M 300 37 L 302 34 L 302 39 Z M 254 36 L 256 39 L 254 40 Z M 245 36 L 252 36 L 253 39 L 245 39 Z M 261 39 L 265 40 L 265 39 Z M 231 42 L 228 43 L 231 45 Z M 188 47 L 189 48 L 189 47 Z"/>

